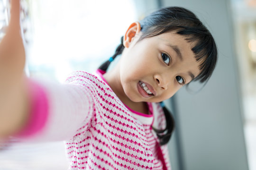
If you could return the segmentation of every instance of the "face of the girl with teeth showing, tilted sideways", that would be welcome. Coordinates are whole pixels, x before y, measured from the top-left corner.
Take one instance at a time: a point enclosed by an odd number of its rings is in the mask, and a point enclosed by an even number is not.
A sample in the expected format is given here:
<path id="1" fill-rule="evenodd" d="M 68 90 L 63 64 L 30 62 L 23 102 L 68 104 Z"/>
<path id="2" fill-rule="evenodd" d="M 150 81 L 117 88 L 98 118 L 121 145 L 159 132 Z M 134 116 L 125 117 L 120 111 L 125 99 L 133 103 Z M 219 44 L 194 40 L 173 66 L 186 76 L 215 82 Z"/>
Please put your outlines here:
<path id="1" fill-rule="evenodd" d="M 131 101 L 164 101 L 200 74 L 192 44 L 182 35 L 169 32 L 138 39 L 125 45 L 119 63 L 119 82 Z"/>

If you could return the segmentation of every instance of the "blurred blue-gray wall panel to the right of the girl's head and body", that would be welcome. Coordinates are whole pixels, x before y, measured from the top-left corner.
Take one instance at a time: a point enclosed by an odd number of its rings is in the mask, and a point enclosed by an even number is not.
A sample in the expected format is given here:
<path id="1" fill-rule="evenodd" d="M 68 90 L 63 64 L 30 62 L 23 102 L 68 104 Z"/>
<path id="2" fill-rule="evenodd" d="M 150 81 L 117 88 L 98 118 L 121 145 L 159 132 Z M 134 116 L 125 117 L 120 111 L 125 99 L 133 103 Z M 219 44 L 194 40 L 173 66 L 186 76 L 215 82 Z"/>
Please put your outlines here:
<path id="1" fill-rule="evenodd" d="M 248 170 L 229 1 L 162 2 L 192 10 L 219 49 L 217 68 L 208 84 L 199 93 L 183 88 L 172 99 L 177 122 L 169 145 L 173 170 Z M 200 87 L 193 85 L 193 89 Z"/>

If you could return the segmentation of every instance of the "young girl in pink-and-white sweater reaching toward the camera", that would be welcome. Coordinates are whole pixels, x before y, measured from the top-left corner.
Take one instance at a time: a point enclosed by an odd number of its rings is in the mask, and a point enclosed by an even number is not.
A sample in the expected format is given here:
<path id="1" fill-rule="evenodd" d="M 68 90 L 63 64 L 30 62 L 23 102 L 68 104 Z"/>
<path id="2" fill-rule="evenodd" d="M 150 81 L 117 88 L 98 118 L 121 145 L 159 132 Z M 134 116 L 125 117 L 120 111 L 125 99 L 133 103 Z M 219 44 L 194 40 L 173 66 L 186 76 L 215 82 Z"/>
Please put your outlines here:
<path id="1" fill-rule="evenodd" d="M 64 85 L 31 80 L 22 76 L 19 1 L 12 0 L 0 42 L 0 137 L 65 140 L 70 170 L 170 170 L 174 121 L 162 101 L 192 81 L 207 82 L 216 61 L 207 28 L 172 7 L 132 23 L 97 75 L 77 71 Z"/>

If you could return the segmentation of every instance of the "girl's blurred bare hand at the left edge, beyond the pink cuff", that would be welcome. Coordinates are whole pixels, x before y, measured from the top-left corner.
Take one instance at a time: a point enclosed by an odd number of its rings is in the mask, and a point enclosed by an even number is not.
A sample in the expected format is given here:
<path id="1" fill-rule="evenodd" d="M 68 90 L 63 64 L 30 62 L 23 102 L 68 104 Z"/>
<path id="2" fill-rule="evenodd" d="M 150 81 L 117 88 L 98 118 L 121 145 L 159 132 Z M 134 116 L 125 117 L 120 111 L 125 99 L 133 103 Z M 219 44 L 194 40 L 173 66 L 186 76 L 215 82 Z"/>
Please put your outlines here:
<path id="1" fill-rule="evenodd" d="M 10 15 L 9 26 L 0 42 L 0 138 L 18 131 L 25 124 L 28 112 L 19 0 L 11 0 Z"/>

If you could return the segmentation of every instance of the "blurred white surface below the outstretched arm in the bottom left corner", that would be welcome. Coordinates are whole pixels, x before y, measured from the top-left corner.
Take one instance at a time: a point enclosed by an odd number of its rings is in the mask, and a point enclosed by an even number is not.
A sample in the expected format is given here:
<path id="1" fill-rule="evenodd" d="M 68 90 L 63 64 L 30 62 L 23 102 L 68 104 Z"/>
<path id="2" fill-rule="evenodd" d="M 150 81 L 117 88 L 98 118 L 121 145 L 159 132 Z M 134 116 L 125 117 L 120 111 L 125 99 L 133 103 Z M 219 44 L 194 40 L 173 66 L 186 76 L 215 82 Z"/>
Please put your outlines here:
<path id="1" fill-rule="evenodd" d="M 63 142 L 15 144 L 0 150 L 0 170 L 67 170 Z"/>

